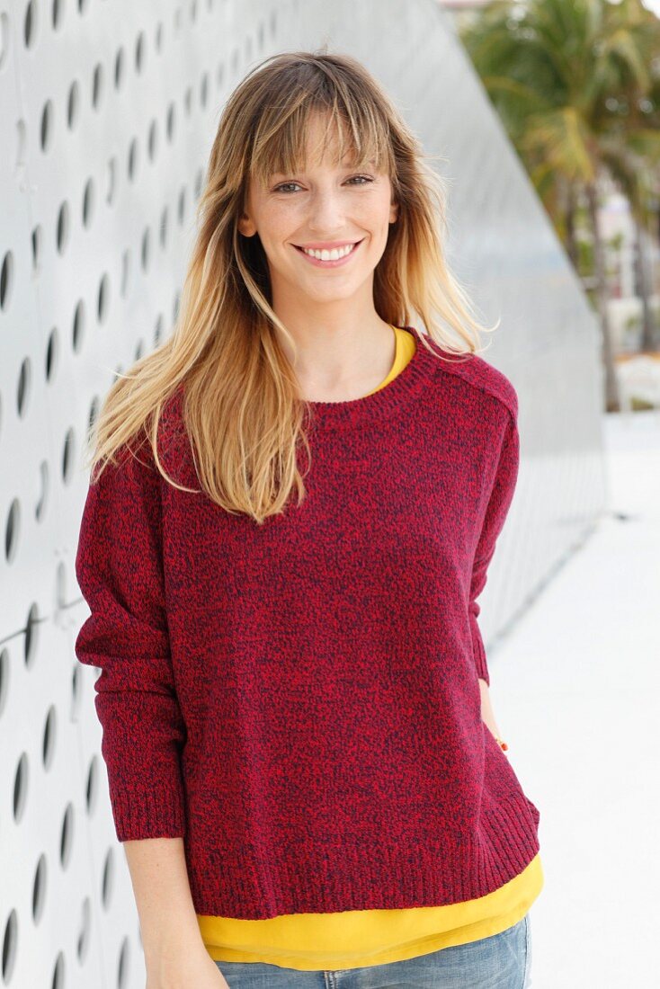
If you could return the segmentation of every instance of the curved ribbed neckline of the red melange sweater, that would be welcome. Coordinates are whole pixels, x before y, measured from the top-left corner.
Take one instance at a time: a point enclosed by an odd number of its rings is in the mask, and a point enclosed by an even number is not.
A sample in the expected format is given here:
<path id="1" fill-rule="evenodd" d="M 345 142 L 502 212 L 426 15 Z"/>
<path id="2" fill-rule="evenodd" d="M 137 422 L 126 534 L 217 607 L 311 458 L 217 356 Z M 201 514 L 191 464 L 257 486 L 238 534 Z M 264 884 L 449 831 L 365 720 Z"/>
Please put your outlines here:
<path id="1" fill-rule="evenodd" d="M 394 324 L 393 324 L 394 325 Z M 426 385 L 437 366 L 437 359 L 414 326 L 400 326 L 415 337 L 416 349 L 406 367 L 383 388 L 346 402 L 306 402 L 317 429 L 345 428 L 380 422 L 401 411 Z"/>

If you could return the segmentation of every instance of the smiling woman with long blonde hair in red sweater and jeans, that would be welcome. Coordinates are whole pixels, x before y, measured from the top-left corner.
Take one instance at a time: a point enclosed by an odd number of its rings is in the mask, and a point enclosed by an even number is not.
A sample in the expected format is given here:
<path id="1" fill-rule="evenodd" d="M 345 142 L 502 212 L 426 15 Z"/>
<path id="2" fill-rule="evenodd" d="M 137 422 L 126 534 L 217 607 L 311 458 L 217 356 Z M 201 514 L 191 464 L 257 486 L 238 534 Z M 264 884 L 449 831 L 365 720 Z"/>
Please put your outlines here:
<path id="1" fill-rule="evenodd" d="M 231 96 L 199 209 L 76 557 L 147 989 L 519 989 L 539 814 L 475 600 L 518 402 L 440 180 L 361 64 L 292 52 Z"/>

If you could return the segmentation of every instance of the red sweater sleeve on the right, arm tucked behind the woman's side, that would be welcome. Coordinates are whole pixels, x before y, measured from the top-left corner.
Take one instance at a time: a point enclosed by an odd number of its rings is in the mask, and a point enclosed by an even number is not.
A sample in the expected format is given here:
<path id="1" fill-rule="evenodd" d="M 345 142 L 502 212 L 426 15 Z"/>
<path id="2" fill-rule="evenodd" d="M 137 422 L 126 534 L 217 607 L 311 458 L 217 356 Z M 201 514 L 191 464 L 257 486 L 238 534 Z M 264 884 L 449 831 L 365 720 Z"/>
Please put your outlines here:
<path id="1" fill-rule="evenodd" d="M 510 411 L 507 426 L 500 450 L 498 468 L 493 490 L 490 495 L 484 524 L 482 527 L 477 550 L 472 565 L 472 580 L 470 584 L 470 632 L 472 636 L 472 651 L 477 668 L 477 675 L 490 685 L 488 661 L 481 630 L 477 621 L 481 608 L 476 598 L 484 589 L 487 581 L 488 567 L 493 555 L 498 537 L 504 528 L 511 502 L 516 491 L 519 472 L 519 431 L 517 418 Z"/>

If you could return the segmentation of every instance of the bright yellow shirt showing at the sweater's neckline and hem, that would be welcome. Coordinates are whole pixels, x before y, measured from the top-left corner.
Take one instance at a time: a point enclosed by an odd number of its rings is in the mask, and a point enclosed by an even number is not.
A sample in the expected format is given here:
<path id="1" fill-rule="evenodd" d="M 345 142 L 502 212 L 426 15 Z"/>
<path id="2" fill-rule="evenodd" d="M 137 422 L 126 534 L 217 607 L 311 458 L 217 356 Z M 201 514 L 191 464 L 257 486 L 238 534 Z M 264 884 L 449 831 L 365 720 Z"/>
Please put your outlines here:
<path id="1" fill-rule="evenodd" d="M 394 364 L 373 391 L 406 367 L 417 346 L 396 333 Z M 368 393 L 373 394 L 373 393 Z M 540 855 L 499 889 L 476 900 L 403 910 L 286 914 L 265 920 L 197 915 L 202 940 L 216 961 L 266 961 L 299 971 L 359 968 L 404 961 L 451 944 L 490 938 L 517 924 L 543 887 Z"/>

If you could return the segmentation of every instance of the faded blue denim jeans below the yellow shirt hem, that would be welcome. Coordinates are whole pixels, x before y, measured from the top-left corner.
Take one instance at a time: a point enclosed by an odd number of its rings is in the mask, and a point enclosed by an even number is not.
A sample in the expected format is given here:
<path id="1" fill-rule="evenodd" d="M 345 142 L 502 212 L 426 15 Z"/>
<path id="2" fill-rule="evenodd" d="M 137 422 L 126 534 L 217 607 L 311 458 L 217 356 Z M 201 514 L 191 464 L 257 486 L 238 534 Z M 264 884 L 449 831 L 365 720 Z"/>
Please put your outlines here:
<path id="1" fill-rule="evenodd" d="M 529 915 L 468 944 L 385 965 L 301 972 L 262 961 L 217 961 L 230 989 L 526 989 L 529 986 Z"/>

